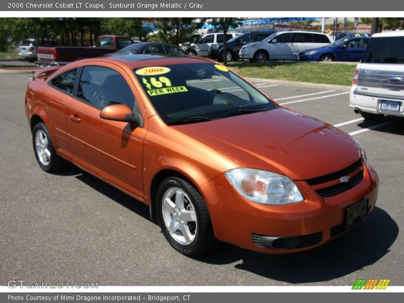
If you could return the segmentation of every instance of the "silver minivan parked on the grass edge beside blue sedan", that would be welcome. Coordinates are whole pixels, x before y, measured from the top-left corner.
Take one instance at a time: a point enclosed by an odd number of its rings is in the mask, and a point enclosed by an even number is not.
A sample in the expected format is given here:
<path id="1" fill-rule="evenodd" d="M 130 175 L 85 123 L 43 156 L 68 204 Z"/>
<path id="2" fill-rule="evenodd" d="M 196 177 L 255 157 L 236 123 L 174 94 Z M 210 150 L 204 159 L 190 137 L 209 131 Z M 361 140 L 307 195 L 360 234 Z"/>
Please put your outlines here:
<path id="1" fill-rule="evenodd" d="M 329 34 L 311 31 L 277 32 L 259 43 L 241 47 L 240 58 L 255 62 L 297 60 L 306 49 L 322 47 L 334 40 Z"/>

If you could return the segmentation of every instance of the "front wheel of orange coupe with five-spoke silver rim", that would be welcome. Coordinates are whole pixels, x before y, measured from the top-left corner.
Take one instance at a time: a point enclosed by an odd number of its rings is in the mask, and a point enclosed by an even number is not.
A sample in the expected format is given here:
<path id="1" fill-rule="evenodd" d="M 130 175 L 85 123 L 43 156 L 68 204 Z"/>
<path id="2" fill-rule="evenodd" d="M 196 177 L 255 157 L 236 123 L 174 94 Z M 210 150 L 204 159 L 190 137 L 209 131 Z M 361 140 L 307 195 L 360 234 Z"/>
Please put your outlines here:
<path id="1" fill-rule="evenodd" d="M 156 212 L 164 236 L 181 254 L 195 256 L 215 244 L 205 201 L 188 181 L 164 179 L 156 193 Z"/>

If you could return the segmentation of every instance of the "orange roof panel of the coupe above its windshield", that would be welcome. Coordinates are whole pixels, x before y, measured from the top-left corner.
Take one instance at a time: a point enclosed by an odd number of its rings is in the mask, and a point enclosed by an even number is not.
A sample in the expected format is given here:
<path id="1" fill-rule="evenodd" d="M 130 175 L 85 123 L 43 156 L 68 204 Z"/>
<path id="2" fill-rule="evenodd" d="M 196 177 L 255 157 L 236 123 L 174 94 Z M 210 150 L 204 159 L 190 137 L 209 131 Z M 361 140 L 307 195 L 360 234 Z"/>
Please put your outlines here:
<path id="1" fill-rule="evenodd" d="M 129 68 L 174 65 L 174 64 L 195 64 L 195 63 L 215 63 L 215 61 L 195 56 L 178 55 L 145 55 L 145 54 L 125 54 L 113 57 L 98 57 L 80 60 L 83 63 L 110 62 L 117 65 L 126 65 Z"/>

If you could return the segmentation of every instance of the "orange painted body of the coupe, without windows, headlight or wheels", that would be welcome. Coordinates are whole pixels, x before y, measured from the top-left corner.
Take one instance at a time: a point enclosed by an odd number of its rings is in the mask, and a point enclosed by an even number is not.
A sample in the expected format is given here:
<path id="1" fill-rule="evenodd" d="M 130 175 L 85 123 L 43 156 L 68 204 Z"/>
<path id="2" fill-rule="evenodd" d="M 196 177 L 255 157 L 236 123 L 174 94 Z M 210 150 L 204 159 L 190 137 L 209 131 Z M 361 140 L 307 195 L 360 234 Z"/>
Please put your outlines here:
<path id="1" fill-rule="evenodd" d="M 322 198 L 304 181 L 339 171 L 360 157 L 347 134 L 319 120 L 279 107 L 209 122 L 166 125 L 133 68 L 201 62 L 212 61 L 196 57 L 143 61 L 108 57 L 73 62 L 45 79 L 29 82 L 27 119 L 30 122 L 37 115 L 44 121 L 64 158 L 147 205 L 152 203 L 150 189 L 156 174 L 166 169 L 183 174 L 203 195 L 215 236 L 248 249 L 285 252 L 255 245 L 251 233 L 298 236 L 322 231 L 321 245 L 330 240 L 330 227 L 343 222 L 346 207 L 369 198 L 373 209 L 378 179 L 365 163 L 364 180 L 337 196 Z M 109 67 L 125 78 L 139 105 L 142 127 L 101 119 L 98 108 L 47 85 L 64 71 L 85 65 Z M 269 206 L 246 200 L 224 175 L 238 167 L 288 176 L 305 201 Z"/>

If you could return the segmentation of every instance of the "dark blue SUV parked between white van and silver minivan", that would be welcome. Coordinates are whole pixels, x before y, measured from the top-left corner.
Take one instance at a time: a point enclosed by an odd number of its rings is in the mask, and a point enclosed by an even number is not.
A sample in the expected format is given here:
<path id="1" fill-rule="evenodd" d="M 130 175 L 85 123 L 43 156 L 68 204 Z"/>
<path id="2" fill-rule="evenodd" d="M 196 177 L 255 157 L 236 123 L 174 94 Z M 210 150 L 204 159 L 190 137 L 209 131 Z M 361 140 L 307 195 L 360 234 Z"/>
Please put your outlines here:
<path id="1" fill-rule="evenodd" d="M 238 59 L 239 58 L 238 53 L 243 45 L 251 42 L 259 42 L 273 33 L 274 33 L 273 31 L 253 31 L 243 33 L 242 35 L 239 35 L 237 37 L 233 37 L 226 43 L 227 61 Z M 212 45 L 209 57 L 215 60 L 223 61 L 224 58 L 223 43 Z"/>

